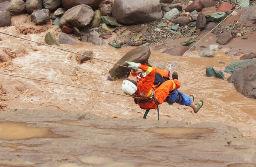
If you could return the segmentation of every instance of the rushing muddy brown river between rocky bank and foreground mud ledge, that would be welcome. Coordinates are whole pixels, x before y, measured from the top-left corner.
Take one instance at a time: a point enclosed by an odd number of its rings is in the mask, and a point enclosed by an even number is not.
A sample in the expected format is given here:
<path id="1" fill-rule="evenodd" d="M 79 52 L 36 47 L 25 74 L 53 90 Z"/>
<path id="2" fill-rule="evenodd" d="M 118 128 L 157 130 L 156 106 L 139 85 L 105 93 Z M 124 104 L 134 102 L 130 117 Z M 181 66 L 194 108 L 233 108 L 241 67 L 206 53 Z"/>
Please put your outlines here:
<path id="1" fill-rule="evenodd" d="M 9 34 L 25 37 L 29 40 L 44 42 L 44 34 L 20 35 L 15 26 L 1 28 Z M 55 28 L 49 29 L 55 35 Z M 33 42 L 0 34 L 0 48 L 13 55 L 12 63 L 0 66 L 0 71 L 7 74 L 41 79 L 67 85 L 75 85 L 99 91 L 122 94 L 122 79 L 108 81 L 108 71 L 112 64 L 100 60 L 90 60 L 79 64 L 75 55 L 66 51 L 49 48 Z M 61 45 L 77 53 L 93 51 L 93 57 L 116 63 L 133 47 L 116 49 L 110 46 L 98 46 L 87 42 L 73 45 Z M 197 113 L 182 105 L 160 105 L 160 120 L 175 119 L 183 122 L 217 122 L 237 127 L 244 136 L 256 138 L 256 99 L 249 99 L 236 91 L 233 84 L 227 82 L 230 74 L 224 74 L 224 80 L 207 77 L 205 68 L 213 66 L 224 71 L 231 61 L 239 57 L 227 57 L 225 51 L 217 51 L 215 57 L 199 57 L 198 51 L 189 51 L 177 61 L 177 71 L 181 82 L 180 91 L 193 94 L 195 102 L 204 100 L 203 108 Z M 154 51 L 151 48 L 152 62 L 165 65 L 178 57 Z M 223 63 L 219 63 L 223 62 Z M 11 109 L 49 109 L 69 110 L 70 112 L 90 112 L 109 118 L 142 118 L 144 110 L 135 105 L 132 98 L 73 88 L 64 85 L 39 82 L 31 79 L 0 75 L 2 89 L 5 90 L 3 103 Z M 18 91 L 17 91 L 18 90 Z M 3 98 L 2 98 L 3 99 Z M 157 112 L 151 110 L 147 119 L 157 119 Z"/>

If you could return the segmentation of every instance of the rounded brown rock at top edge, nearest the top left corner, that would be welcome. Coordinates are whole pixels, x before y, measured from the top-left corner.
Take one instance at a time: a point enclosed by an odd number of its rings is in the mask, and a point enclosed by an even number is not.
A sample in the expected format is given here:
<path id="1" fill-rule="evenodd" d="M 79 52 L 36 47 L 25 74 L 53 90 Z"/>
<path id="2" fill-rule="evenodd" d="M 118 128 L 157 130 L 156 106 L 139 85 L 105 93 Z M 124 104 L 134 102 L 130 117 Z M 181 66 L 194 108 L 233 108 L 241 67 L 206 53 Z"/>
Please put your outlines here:
<path id="1" fill-rule="evenodd" d="M 25 13 L 26 3 L 23 0 L 12 0 L 6 7 L 6 11 L 12 15 Z"/>

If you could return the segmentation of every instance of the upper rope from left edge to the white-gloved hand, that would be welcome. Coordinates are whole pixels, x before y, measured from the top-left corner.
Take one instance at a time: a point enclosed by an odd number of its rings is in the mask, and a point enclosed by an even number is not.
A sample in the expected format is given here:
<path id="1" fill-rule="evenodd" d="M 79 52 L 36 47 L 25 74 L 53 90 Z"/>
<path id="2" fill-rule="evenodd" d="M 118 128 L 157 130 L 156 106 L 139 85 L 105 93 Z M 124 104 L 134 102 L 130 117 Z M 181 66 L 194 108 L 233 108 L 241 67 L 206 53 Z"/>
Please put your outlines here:
<path id="1" fill-rule="evenodd" d="M 102 62 L 107 62 L 107 63 L 113 64 L 113 65 L 119 65 L 119 64 L 116 64 L 116 63 L 113 63 L 113 62 L 108 62 L 108 61 L 106 61 L 106 60 L 98 59 L 98 58 L 91 57 L 91 56 L 87 56 L 87 55 L 84 55 L 84 54 L 79 54 L 79 53 L 76 53 L 76 52 L 73 52 L 73 51 L 69 51 L 69 50 L 66 50 L 66 49 L 58 48 L 58 47 L 55 47 L 55 46 L 52 46 L 52 45 L 47 45 L 47 44 L 44 44 L 44 43 L 41 43 L 41 42 L 36 42 L 36 41 L 29 40 L 29 39 L 26 39 L 26 38 L 23 38 L 23 37 L 17 37 L 17 36 L 15 36 L 15 35 L 7 34 L 7 33 L 4 33 L 4 32 L 2 32 L 2 31 L 0 31 L 0 33 L 1 33 L 1 34 L 5 34 L 5 35 L 8 35 L 8 36 L 11 36 L 11 37 L 19 38 L 19 39 L 21 39 L 21 40 L 26 40 L 26 41 L 30 41 L 30 42 L 35 42 L 35 43 L 40 44 L 40 45 L 45 45 L 45 46 L 48 46 L 48 47 L 51 47 L 51 48 L 59 49 L 59 50 L 61 50 L 61 51 L 67 51 L 67 52 L 70 52 L 70 53 L 73 53 L 73 54 L 78 54 L 78 55 L 81 55 L 81 56 L 90 57 L 91 59 L 96 59 L 96 60 L 99 60 L 99 61 L 102 61 Z M 125 66 L 125 65 L 119 65 L 119 66 L 128 68 L 128 67 Z"/>

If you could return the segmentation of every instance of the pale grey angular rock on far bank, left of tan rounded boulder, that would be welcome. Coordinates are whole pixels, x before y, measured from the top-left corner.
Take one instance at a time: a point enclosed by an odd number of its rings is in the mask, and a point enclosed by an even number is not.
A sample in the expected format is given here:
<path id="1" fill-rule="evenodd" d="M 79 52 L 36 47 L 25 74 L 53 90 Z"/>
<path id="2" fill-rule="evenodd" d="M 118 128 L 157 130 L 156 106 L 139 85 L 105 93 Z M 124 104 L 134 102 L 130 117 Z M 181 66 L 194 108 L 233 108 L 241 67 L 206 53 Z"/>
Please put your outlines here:
<path id="1" fill-rule="evenodd" d="M 50 20 L 50 11 L 46 8 L 35 11 L 31 15 L 31 20 L 35 25 L 47 23 Z"/>

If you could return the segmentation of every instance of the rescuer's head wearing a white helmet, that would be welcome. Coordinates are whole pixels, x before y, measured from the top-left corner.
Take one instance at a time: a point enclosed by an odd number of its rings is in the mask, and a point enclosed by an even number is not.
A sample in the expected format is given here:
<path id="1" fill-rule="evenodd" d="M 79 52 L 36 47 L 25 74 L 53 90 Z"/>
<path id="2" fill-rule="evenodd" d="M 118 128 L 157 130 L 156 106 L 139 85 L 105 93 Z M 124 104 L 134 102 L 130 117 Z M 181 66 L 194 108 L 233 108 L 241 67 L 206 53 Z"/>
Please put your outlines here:
<path id="1" fill-rule="evenodd" d="M 130 76 L 122 82 L 122 92 L 126 95 L 133 95 L 137 91 L 137 78 Z"/>

